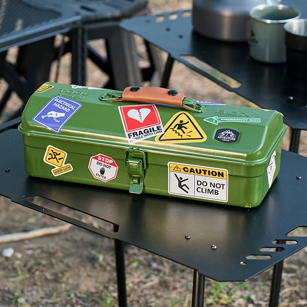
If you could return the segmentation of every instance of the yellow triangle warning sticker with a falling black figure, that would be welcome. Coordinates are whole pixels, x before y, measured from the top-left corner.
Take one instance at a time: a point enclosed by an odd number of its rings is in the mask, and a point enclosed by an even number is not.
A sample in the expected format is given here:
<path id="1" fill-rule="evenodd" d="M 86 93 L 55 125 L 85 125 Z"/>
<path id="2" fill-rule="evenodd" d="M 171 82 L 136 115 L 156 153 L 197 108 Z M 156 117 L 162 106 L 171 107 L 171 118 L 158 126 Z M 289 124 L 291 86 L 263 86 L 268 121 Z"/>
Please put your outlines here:
<path id="1" fill-rule="evenodd" d="M 188 112 L 178 112 L 164 126 L 164 134 L 157 135 L 156 142 L 166 144 L 204 142 L 207 135 L 196 119 Z"/>

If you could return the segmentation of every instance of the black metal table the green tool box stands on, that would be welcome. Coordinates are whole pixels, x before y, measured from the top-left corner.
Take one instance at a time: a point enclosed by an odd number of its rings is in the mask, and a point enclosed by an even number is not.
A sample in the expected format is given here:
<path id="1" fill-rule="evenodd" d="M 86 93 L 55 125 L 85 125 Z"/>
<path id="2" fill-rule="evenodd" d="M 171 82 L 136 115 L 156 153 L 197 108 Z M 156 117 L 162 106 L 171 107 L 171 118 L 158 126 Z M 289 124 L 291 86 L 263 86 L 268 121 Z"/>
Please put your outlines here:
<path id="1" fill-rule="evenodd" d="M 16 129 L 19 122 L 0 126 L 0 144 L 6 144 L 0 159 L 0 195 L 114 239 L 120 307 L 126 306 L 123 242 L 192 268 L 192 307 L 204 305 L 205 276 L 246 281 L 307 246 L 306 237 L 287 236 L 307 225 L 306 157 L 283 150 L 270 191 L 262 204 L 247 209 L 30 177 Z M 108 221 L 113 231 L 65 216 L 54 203 Z"/>

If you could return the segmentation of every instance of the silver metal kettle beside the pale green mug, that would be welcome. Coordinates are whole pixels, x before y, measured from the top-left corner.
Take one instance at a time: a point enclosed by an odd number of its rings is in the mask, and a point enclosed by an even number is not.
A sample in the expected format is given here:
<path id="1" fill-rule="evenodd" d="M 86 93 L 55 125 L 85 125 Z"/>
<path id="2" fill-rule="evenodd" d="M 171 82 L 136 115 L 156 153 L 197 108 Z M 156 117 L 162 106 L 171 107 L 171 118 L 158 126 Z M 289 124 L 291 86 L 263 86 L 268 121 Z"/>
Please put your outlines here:
<path id="1" fill-rule="evenodd" d="M 254 6 L 281 4 L 282 0 L 193 0 L 194 30 L 221 41 L 248 41 L 249 12 Z"/>

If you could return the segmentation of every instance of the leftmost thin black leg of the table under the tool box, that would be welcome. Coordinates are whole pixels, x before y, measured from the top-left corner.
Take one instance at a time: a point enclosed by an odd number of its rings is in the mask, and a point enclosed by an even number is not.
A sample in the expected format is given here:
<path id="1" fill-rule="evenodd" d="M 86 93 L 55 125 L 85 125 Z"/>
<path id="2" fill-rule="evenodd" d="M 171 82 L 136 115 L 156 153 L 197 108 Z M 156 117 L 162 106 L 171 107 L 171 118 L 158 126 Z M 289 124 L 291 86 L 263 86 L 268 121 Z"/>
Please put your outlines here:
<path id="1" fill-rule="evenodd" d="M 119 307 L 127 307 L 125 258 L 122 241 L 114 240 Z"/>

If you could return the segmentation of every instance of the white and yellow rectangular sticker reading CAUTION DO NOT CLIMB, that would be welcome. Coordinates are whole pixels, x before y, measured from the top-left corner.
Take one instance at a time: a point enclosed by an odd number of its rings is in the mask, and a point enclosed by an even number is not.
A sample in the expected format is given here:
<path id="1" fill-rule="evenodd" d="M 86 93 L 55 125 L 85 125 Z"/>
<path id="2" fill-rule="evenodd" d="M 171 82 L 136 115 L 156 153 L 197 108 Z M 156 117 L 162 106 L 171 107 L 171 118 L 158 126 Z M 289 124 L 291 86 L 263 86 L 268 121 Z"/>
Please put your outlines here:
<path id="1" fill-rule="evenodd" d="M 227 169 L 169 162 L 168 173 L 169 194 L 228 201 Z"/>

